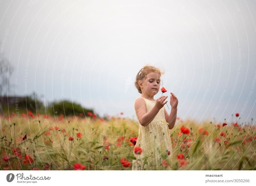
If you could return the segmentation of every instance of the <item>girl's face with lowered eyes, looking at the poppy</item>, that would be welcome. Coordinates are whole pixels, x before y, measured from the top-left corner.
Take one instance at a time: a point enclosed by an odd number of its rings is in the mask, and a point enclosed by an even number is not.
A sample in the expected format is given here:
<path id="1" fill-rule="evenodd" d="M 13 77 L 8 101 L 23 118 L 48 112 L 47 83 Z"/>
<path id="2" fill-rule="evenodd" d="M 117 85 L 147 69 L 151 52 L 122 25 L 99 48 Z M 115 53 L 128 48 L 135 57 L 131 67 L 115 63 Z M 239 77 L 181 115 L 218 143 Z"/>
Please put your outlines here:
<path id="1" fill-rule="evenodd" d="M 140 82 L 142 94 L 147 94 L 149 97 L 156 95 L 160 88 L 160 74 L 150 72 L 143 82 Z"/>

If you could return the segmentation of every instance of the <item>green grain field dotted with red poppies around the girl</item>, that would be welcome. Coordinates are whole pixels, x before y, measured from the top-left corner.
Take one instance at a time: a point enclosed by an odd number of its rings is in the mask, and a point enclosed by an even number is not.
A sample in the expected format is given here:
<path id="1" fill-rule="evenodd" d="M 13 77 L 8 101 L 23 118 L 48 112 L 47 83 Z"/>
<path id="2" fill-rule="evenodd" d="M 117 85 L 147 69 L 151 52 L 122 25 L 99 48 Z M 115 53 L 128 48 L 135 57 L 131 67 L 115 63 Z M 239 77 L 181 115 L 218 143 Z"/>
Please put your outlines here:
<path id="1" fill-rule="evenodd" d="M 16 114 L 0 117 L 1 170 L 132 170 L 139 123 L 122 117 Z M 152 170 L 256 170 L 256 129 L 242 122 L 177 121 L 172 152 Z M 165 160 L 171 156 L 172 162 Z"/>

